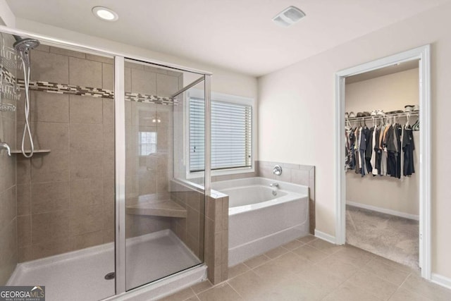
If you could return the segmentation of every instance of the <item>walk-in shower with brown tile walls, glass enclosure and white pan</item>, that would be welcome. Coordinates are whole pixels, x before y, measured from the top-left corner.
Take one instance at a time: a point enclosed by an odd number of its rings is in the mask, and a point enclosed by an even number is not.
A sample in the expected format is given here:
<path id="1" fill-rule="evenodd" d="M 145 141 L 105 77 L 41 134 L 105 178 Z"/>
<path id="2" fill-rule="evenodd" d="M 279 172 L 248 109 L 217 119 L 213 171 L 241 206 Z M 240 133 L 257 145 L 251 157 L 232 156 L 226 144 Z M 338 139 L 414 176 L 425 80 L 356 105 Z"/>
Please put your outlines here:
<path id="1" fill-rule="evenodd" d="M 152 300 L 203 280 L 209 171 L 188 174 L 185 137 L 209 75 L 17 33 L 4 43 L 21 70 L 2 69 L 20 97 L 0 113 L 0 285 Z"/>

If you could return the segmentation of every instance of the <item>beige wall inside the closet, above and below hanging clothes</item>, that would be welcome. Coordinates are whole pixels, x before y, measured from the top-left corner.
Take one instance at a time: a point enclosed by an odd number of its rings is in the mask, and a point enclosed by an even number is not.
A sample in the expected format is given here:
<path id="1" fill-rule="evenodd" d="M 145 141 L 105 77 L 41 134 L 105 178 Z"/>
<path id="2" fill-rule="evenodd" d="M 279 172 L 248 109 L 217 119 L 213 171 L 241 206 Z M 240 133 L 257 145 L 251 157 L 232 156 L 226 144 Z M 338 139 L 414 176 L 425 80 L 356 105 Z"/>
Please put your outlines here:
<path id="1" fill-rule="evenodd" d="M 354 113 L 383 109 L 402 110 L 406 104 L 419 104 L 419 69 L 346 85 L 345 111 Z M 404 117 L 398 119 L 405 123 Z M 415 118 L 416 120 L 416 118 Z M 414 118 L 412 118 L 412 123 Z M 371 126 L 372 121 L 366 121 Z M 364 177 L 354 171 L 346 173 L 346 201 L 419 215 L 419 132 L 414 132 L 414 167 L 412 177 L 401 179 L 371 174 Z"/>

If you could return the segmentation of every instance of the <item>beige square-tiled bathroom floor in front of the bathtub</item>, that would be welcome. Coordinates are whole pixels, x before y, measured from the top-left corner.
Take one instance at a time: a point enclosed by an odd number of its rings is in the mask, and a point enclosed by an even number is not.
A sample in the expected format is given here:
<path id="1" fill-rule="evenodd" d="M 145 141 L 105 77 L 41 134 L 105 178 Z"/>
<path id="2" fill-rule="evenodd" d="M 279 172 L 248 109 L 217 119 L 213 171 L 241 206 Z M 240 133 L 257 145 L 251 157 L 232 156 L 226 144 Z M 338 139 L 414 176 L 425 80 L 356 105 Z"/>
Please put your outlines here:
<path id="1" fill-rule="evenodd" d="M 448 301 L 451 290 L 408 266 L 307 236 L 233 266 L 228 281 L 204 281 L 161 300 Z"/>

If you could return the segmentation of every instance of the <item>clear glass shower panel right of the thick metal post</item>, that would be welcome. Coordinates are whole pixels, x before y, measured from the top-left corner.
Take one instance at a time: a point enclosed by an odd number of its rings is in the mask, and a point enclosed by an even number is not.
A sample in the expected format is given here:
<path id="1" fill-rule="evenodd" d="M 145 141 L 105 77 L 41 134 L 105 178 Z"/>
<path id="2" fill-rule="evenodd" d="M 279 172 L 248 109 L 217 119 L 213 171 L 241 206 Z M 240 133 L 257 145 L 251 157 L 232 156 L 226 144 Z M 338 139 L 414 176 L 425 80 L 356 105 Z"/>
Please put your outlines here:
<path id="1" fill-rule="evenodd" d="M 125 288 L 130 290 L 203 262 L 204 177 L 187 180 L 185 167 L 187 92 L 178 92 L 193 75 L 125 60 L 124 77 Z M 198 87 L 203 90 L 203 83 Z"/>

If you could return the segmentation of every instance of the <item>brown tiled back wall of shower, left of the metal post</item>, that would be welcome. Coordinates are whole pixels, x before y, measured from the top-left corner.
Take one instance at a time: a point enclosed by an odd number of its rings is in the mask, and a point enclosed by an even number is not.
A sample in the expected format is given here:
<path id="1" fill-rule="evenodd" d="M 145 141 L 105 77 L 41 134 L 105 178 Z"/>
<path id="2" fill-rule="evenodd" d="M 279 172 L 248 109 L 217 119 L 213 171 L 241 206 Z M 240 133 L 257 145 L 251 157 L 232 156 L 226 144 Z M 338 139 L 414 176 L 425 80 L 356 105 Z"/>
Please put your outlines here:
<path id="1" fill-rule="evenodd" d="M 113 60 L 100 56 L 42 45 L 31 53 L 31 70 L 31 80 L 112 89 Z M 113 99 L 30 95 L 35 149 L 51 152 L 17 155 L 19 262 L 112 242 Z M 18 137 L 22 116 L 23 99 Z"/>

